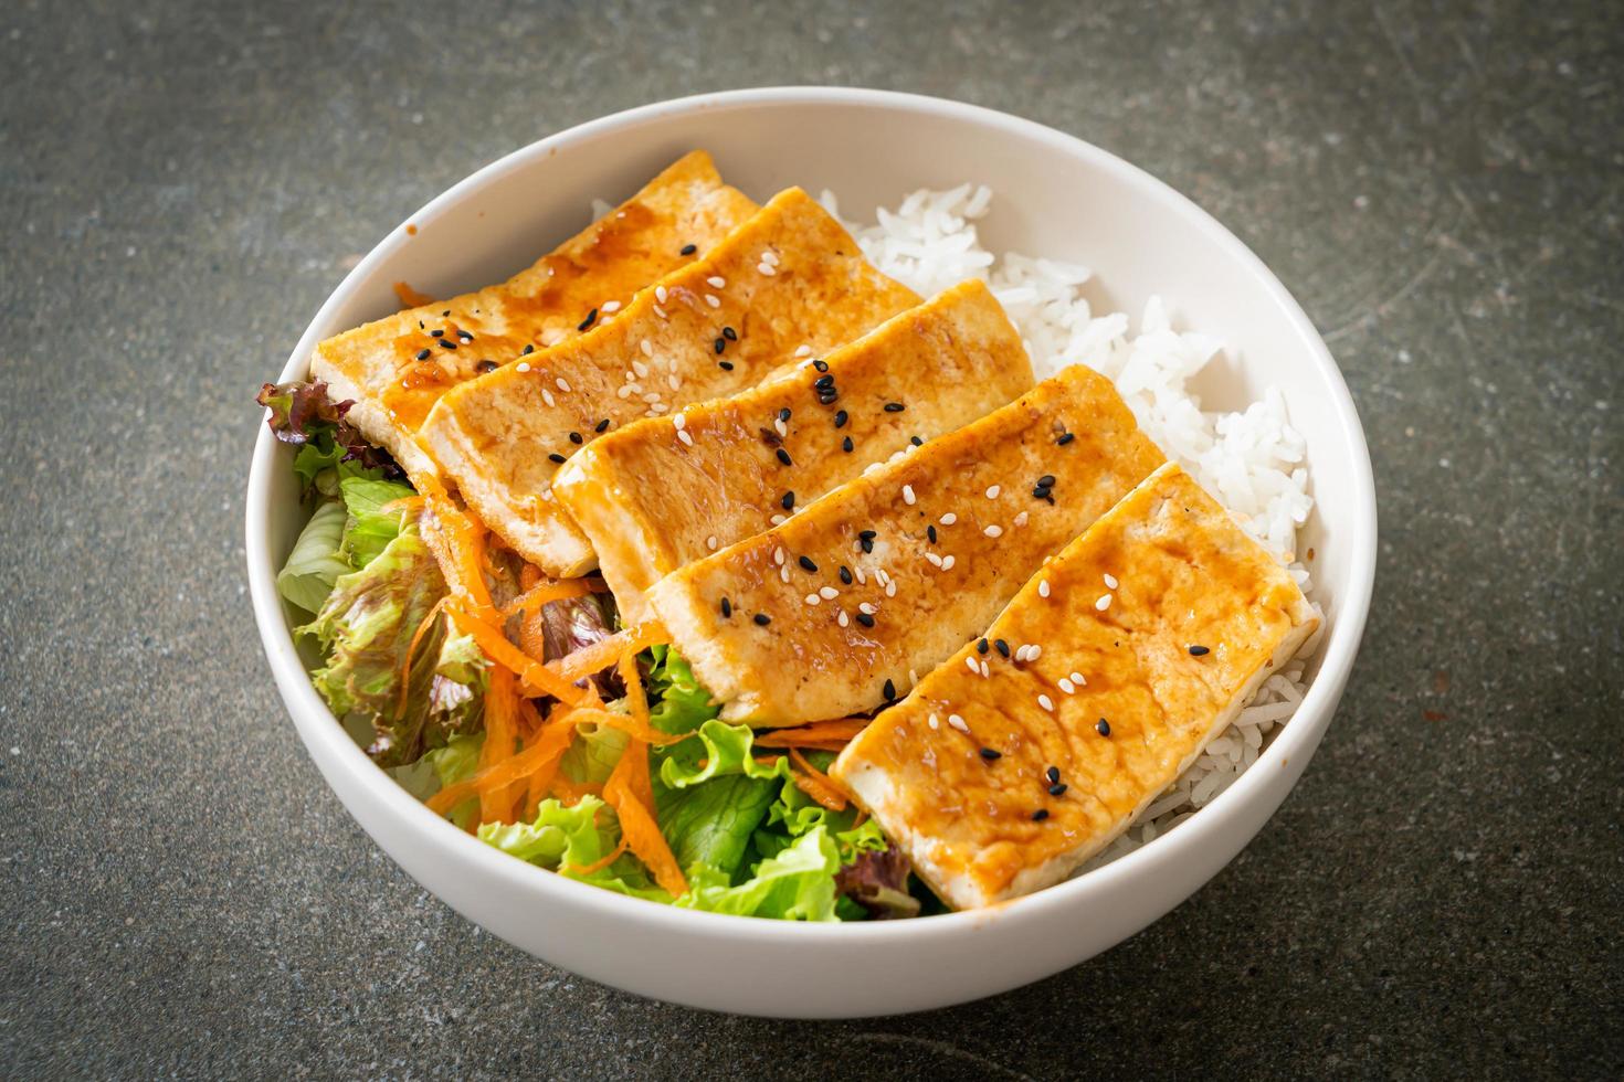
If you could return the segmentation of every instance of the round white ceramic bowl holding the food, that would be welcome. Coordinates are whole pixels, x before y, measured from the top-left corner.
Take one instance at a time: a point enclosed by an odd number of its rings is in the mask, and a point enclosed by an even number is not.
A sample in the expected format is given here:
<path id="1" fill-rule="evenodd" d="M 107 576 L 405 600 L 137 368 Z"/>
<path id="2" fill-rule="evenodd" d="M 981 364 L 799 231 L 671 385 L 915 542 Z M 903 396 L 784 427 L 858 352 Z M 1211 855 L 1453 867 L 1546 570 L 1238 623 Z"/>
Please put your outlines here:
<path id="1" fill-rule="evenodd" d="M 919 187 L 992 185 L 989 248 L 1095 269 L 1093 300 L 1137 318 L 1150 294 L 1220 336 L 1208 407 L 1278 384 L 1304 433 L 1317 509 L 1317 597 L 1330 629 L 1296 717 L 1212 805 L 1150 845 L 1070 882 L 991 910 L 867 925 L 797 925 L 693 913 L 620 897 L 529 866 L 435 818 L 344 735 L 312 689 L 274 574 L 302 524 L 289 454 L 266 430 L 247 495 L 253 610 L 287 711 L 333 792 L 414 879 L 525 951 L 645 996 L 741 1014 L 846 1017 L 989 996 L 1104 951 L 1187 899 L 1280 806 L 1341 698 L 1369 608 L 1376 492 L 1359 419 L 1337 365 L 1285 287 L 1194 203 L 1104 151 L 957 102 L 857 89 L 757 89 L 687 97 L 594 120 L 481 169 L 391 232 L 333 292 L 283 380 L 305 376 L 317 341 L 396 307 L 391 284 L 443 297 L 500 281 L 692 148 L 757 200 L 831 188 L 843 213 Z M 1096 307 L 1096 311 L 1104 310 Z M 1306 858 L 1306 857 L 1304 857 Z M 784 980 L 794 973 L 794 980 Z"/>

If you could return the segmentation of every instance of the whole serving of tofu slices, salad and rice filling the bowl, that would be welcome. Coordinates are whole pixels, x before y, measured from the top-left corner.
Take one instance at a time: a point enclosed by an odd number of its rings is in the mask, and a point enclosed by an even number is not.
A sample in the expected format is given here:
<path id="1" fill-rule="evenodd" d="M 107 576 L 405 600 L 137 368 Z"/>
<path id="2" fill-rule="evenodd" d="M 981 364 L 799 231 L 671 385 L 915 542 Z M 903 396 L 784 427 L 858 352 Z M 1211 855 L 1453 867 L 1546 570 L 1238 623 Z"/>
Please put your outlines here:
<path id="1" fill-rule="evenodd" d="M 1257 762 L 1325 618 L 1304 441 L 1221 352 L 693 151 L 507 282 L 317 346 L 260 404 L 278 576 L 374 762 L 515 860 L 806 921 L 1013 899 Z"/>

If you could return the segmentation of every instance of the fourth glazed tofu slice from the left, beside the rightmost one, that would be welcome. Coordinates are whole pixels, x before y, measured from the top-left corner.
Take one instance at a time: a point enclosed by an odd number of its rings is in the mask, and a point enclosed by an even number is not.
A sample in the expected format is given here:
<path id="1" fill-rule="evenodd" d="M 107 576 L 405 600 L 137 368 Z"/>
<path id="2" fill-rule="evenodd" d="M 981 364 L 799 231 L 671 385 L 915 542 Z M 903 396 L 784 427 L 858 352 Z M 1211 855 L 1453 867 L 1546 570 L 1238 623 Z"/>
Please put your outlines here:
<path id="1" fill-rule="evenodd" d="M 892 406 L 906 417 L 924 401 L 869 409 Z M 666 576 L 648 602 L 729 720 L 870 711 L 979 634 L 1161 461 L 1111 381 L 1075 365 Z"/>

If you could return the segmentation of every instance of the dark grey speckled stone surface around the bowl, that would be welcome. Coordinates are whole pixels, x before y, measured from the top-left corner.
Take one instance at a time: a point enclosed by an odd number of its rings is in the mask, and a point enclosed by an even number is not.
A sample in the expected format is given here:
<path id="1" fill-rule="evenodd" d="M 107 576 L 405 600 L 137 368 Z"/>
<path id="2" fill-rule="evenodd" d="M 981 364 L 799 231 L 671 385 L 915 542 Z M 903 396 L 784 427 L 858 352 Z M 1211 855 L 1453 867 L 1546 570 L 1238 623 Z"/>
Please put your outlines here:
<path id="1" fill-rule="evenodd" d="M 13 0 L 0 70 L 0 1074 L 1624 1071 L 1616 3 Z M 323 787 L 244 595 L 252 393 L 359 253 L 546 133 L 767 83 L 1164 177 L 1327 333 L 1376 461 L 1364 654 L 1286 806 L 939 1014 L 695 1014 L 481 934 Z"/>

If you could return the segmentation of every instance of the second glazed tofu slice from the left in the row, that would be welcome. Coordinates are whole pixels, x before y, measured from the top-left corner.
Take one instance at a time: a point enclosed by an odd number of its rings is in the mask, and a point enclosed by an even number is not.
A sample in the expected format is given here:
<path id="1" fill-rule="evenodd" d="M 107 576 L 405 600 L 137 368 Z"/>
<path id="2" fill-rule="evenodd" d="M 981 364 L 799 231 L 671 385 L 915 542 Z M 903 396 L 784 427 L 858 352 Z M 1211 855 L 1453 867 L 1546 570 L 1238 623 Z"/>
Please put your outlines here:
<path id="1" fill-rule="evenodd" d="M 755 386 L 797 350 L 827 352 L 918 302 L 789 188 L 612 323 L 447 394 L 422 441 L 508 545 L 549 574 L 583 574 L 591 543 L 552 493 L 581 444 Z"/>

